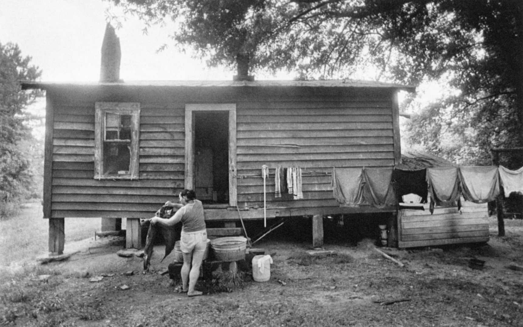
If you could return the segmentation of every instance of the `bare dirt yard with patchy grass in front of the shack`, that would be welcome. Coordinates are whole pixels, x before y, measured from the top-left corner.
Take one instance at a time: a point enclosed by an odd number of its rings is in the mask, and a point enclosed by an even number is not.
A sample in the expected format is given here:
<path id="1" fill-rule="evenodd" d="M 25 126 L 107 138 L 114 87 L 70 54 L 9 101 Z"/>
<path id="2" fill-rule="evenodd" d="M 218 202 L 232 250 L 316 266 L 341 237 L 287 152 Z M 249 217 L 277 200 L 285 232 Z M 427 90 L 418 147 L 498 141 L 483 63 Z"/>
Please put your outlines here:
<path id="1" fill-rule="evenodd" d="M 326 242 L 324 249 L 336 255 L 310 257 L 303 253 L 311 243 L 285 237 L 282 229 L 255 245 L 274 260 L 269 281 L 257 283 L 247 272 L 241 288 L 231 292 L 218 292 L 212 281 L 202 281 L 197 289 L 204 295 L 194 298 L 180 293 L 179 284 L 170 286 L 168 274 L 161 274 L 174 258 L 171 254 L 160 263 L 163 246 L 155 247 L 151 269 L 143 273 L 141 258 L 116 255 L 122 239 L 88 239 L 66 244 L 66 253 L 79 251 L 69 260 L 44 265 L 51 272 L 45 281 L 31 280 L 36 276 L 16 281 L 26 290 L 46 294 L 44 304 L 29 305 L 29 291 L 25 301 L 4 295 L 4 303 L 12 309 L 7 312 L 10 316 L 4 311 L 3 322 L 135 327 L 523 326 L 523 272 L 508 268 L 523 266 L 523 223 L 506 220 L 503 238 L 497 236 L 495 218 L 491 225 L 487 244 L 381 248 L 403 267 L 377 253 L 369 239 L 357 245 Z M 471 258 L 485 261 L 484 268 L 470 268 Z M 130 276 L 124 274 L 131 271 Z M 105 277 L 90 281 L 97 276 Z M 122 289 L 124 285 L 129 288 Z M 9 287 L 4 285 L 4 290 L 14 294 L 14 286 Z"/>

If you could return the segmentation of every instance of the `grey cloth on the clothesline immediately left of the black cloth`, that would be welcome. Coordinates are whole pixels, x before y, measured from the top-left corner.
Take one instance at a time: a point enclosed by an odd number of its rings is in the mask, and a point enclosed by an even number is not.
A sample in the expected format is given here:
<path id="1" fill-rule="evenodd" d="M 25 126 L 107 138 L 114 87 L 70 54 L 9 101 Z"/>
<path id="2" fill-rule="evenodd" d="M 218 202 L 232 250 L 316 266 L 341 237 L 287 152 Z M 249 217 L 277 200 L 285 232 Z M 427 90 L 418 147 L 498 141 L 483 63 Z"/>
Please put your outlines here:
<path id="1" fill-rule="evenodd" d="M 371 206 L 384 208 L 396 205 L 392 188 L 393 168 L 363 168 L 363 198 Z"/>

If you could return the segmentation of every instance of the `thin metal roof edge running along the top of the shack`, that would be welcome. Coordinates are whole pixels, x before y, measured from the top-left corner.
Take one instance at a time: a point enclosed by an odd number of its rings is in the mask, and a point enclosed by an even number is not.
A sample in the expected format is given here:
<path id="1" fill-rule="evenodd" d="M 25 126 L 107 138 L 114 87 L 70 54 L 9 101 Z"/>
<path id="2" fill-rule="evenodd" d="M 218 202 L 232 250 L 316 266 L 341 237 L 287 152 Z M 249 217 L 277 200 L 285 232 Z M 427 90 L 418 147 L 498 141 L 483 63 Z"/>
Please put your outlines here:
<path id="1" fill-rule="evenodd" d="M 22 89 L 63 86 L 98 86 L 98 85 L 119 85 L 119 86 L 167 86 L 167 87 L 348 87 L 348 88 L 395 88 L 404 91 L 414 92 L 416 87 L 413 85 L 401 85 L 392 83 L 382 83 L 374 81 L 358 80 L 328 80 L 328 81 L 128 81 L 118 83 L 101 82 L 20 82 Z"/>

